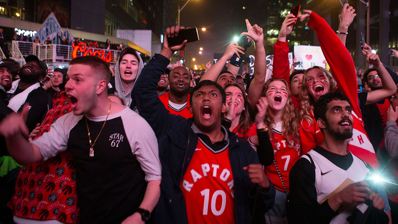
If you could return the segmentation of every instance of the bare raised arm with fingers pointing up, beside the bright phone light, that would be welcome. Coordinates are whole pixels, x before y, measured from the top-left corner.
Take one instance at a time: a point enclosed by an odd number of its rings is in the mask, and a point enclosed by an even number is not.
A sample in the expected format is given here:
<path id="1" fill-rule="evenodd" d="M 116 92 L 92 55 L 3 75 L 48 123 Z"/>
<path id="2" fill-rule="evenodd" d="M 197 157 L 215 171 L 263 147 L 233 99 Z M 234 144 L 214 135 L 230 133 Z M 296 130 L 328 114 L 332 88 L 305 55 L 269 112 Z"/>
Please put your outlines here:
<path id="1" fill-rule="evenodd" d="M 248 31 L 243 32 L 240 35 L 246 35 L 252 39 L 252 42 L 254 43 L 254 57 L 256 58 L 254 61 L 253 79 L 248 90 L 248 102 L 253 109 L 256 109 L 256 104 L 258 103 L 258 99 L 261 97 L 264 88 L 267 70 L 267 55 L 265 54 L 263 43 L 263 28 L 260 28 L 257 24 L 252 26 L 248 19 L 246 19 L 246 26 Z"/>

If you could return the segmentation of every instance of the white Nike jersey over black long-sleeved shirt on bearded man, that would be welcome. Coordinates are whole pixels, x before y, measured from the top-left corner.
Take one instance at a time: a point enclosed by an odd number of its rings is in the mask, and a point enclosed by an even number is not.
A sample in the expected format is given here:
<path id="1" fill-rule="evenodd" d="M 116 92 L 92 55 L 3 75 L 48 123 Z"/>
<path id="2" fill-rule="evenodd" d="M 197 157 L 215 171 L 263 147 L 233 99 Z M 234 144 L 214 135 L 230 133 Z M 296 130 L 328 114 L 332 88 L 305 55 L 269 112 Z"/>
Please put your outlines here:
<path id="1" fill-rule="evenodd" d="M 348 224 L 355 207 L 335 212 L 327 199 L 347 185 L 363 181 L 371 169 L 348 150 L 346 155 L 338 155 L 316 146 L 298 159 L 289 173 L 289 223 Z M 365 212 L 368 206 L 361 203 L 357 208 Z"/>

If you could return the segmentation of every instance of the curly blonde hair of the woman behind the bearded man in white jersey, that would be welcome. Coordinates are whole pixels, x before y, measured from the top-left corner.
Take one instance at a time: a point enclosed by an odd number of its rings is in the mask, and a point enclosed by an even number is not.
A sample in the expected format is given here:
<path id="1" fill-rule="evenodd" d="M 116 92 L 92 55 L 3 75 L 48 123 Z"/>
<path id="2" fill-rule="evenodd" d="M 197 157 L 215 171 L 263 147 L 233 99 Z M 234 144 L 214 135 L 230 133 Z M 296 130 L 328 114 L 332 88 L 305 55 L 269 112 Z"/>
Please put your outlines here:
<path id="1" fill-rule="evenodd" d="M 315 100 L 314 98 L 311 96 L 311 94 L 308 92 L 307 90 L 307 82 L 306 79 L 308 77 L 308 72 L 311 71 L 312 69 L 320 69 L 325 73 L 326 78 L 328 79 L 328 83 L 330 85 L 330 89 L 329 92 L 334 92 L 337 90 L 337 83 L 336 80 L 334 80 L 332 73 L 330 73 L 328 70 L 319 67 L 319 66 L 314 66 L 312 68 L 309 68 L 305 71 L 304 76 L 302 77 L 302 81 L 301 81 L 301 92 L 300 92 L 300 106 L 301 106 L 301 110 L 300 110 L 300 118 L 303 120 L 305 120 L 309 126 L 308 127 L 303 127 L 303 128 L 309 128 L 314 121 L 312 120 L 312 117 L 310 115 L 310 112 L 312 112 L 312 110 L 314 109 L 314 103 Z M 300 122 L 301 126 L 302 126 L 302 121 Z"/>

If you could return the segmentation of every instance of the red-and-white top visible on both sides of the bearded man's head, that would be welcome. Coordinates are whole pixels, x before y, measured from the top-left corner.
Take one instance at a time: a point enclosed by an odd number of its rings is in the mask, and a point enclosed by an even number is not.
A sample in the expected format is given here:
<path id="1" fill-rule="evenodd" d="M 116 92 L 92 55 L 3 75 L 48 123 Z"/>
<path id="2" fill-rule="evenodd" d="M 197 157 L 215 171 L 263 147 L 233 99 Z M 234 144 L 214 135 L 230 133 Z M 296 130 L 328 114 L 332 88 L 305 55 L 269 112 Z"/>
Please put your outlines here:
<path id="1" fill-rule="evenodd" d="M 320 145 L 324 141 L 324 136 L 316 124 L 314 115 L 311 113 L 314 124 L 308 127 L 308 123 L 304 120 L 300 121 L 300 140 L 302 146 L 302 153 L 306 154 L 308 151 L 313 149 L 316 145 Z M 353 135 L 348 140 L 347 149 L 353 153 L 356 157 L 361 158 L 367 162 L 373 169 L 379 166 L 376 158 L 375 150 L 373 149 L 372 143 L 365 132 L 365 128 L 362 123 L 362 119 L 352 111 L 353 117 Z"/>

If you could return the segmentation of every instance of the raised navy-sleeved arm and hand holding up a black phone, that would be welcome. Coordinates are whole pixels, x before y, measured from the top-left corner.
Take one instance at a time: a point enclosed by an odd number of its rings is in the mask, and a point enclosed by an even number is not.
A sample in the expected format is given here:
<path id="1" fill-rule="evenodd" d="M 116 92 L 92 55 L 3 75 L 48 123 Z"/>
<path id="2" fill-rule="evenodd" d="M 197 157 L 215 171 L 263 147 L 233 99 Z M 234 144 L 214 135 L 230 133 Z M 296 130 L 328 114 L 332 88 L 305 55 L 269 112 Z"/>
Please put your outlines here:
<path id="1" fill-rule="evenodd" d="M 131 92 L 132 97 L 135 97 L 136 99 L 137 109 L 140 112 L 140 116 L 150 124 L 158 138 L 162 134 L 165 134 L 170 127 L 173 115 L 169 114 L 166 110 L 164 104 L 158 98 L 156 90 L 160 76 L 164 73 L 167 65 L 170 63 L 170 58 L 173 53 L 183 49 L 187 44 L 187 41 L 185 40 L 181 45 L 172 47 L 168 45 L 167 37 L 178 35 L 179 29 L 179 26 L 172 26 L 171 28 L 166 29 L 162 51 L 160 54 L 156 54 L 142 69 L 137 83 Z"/>

